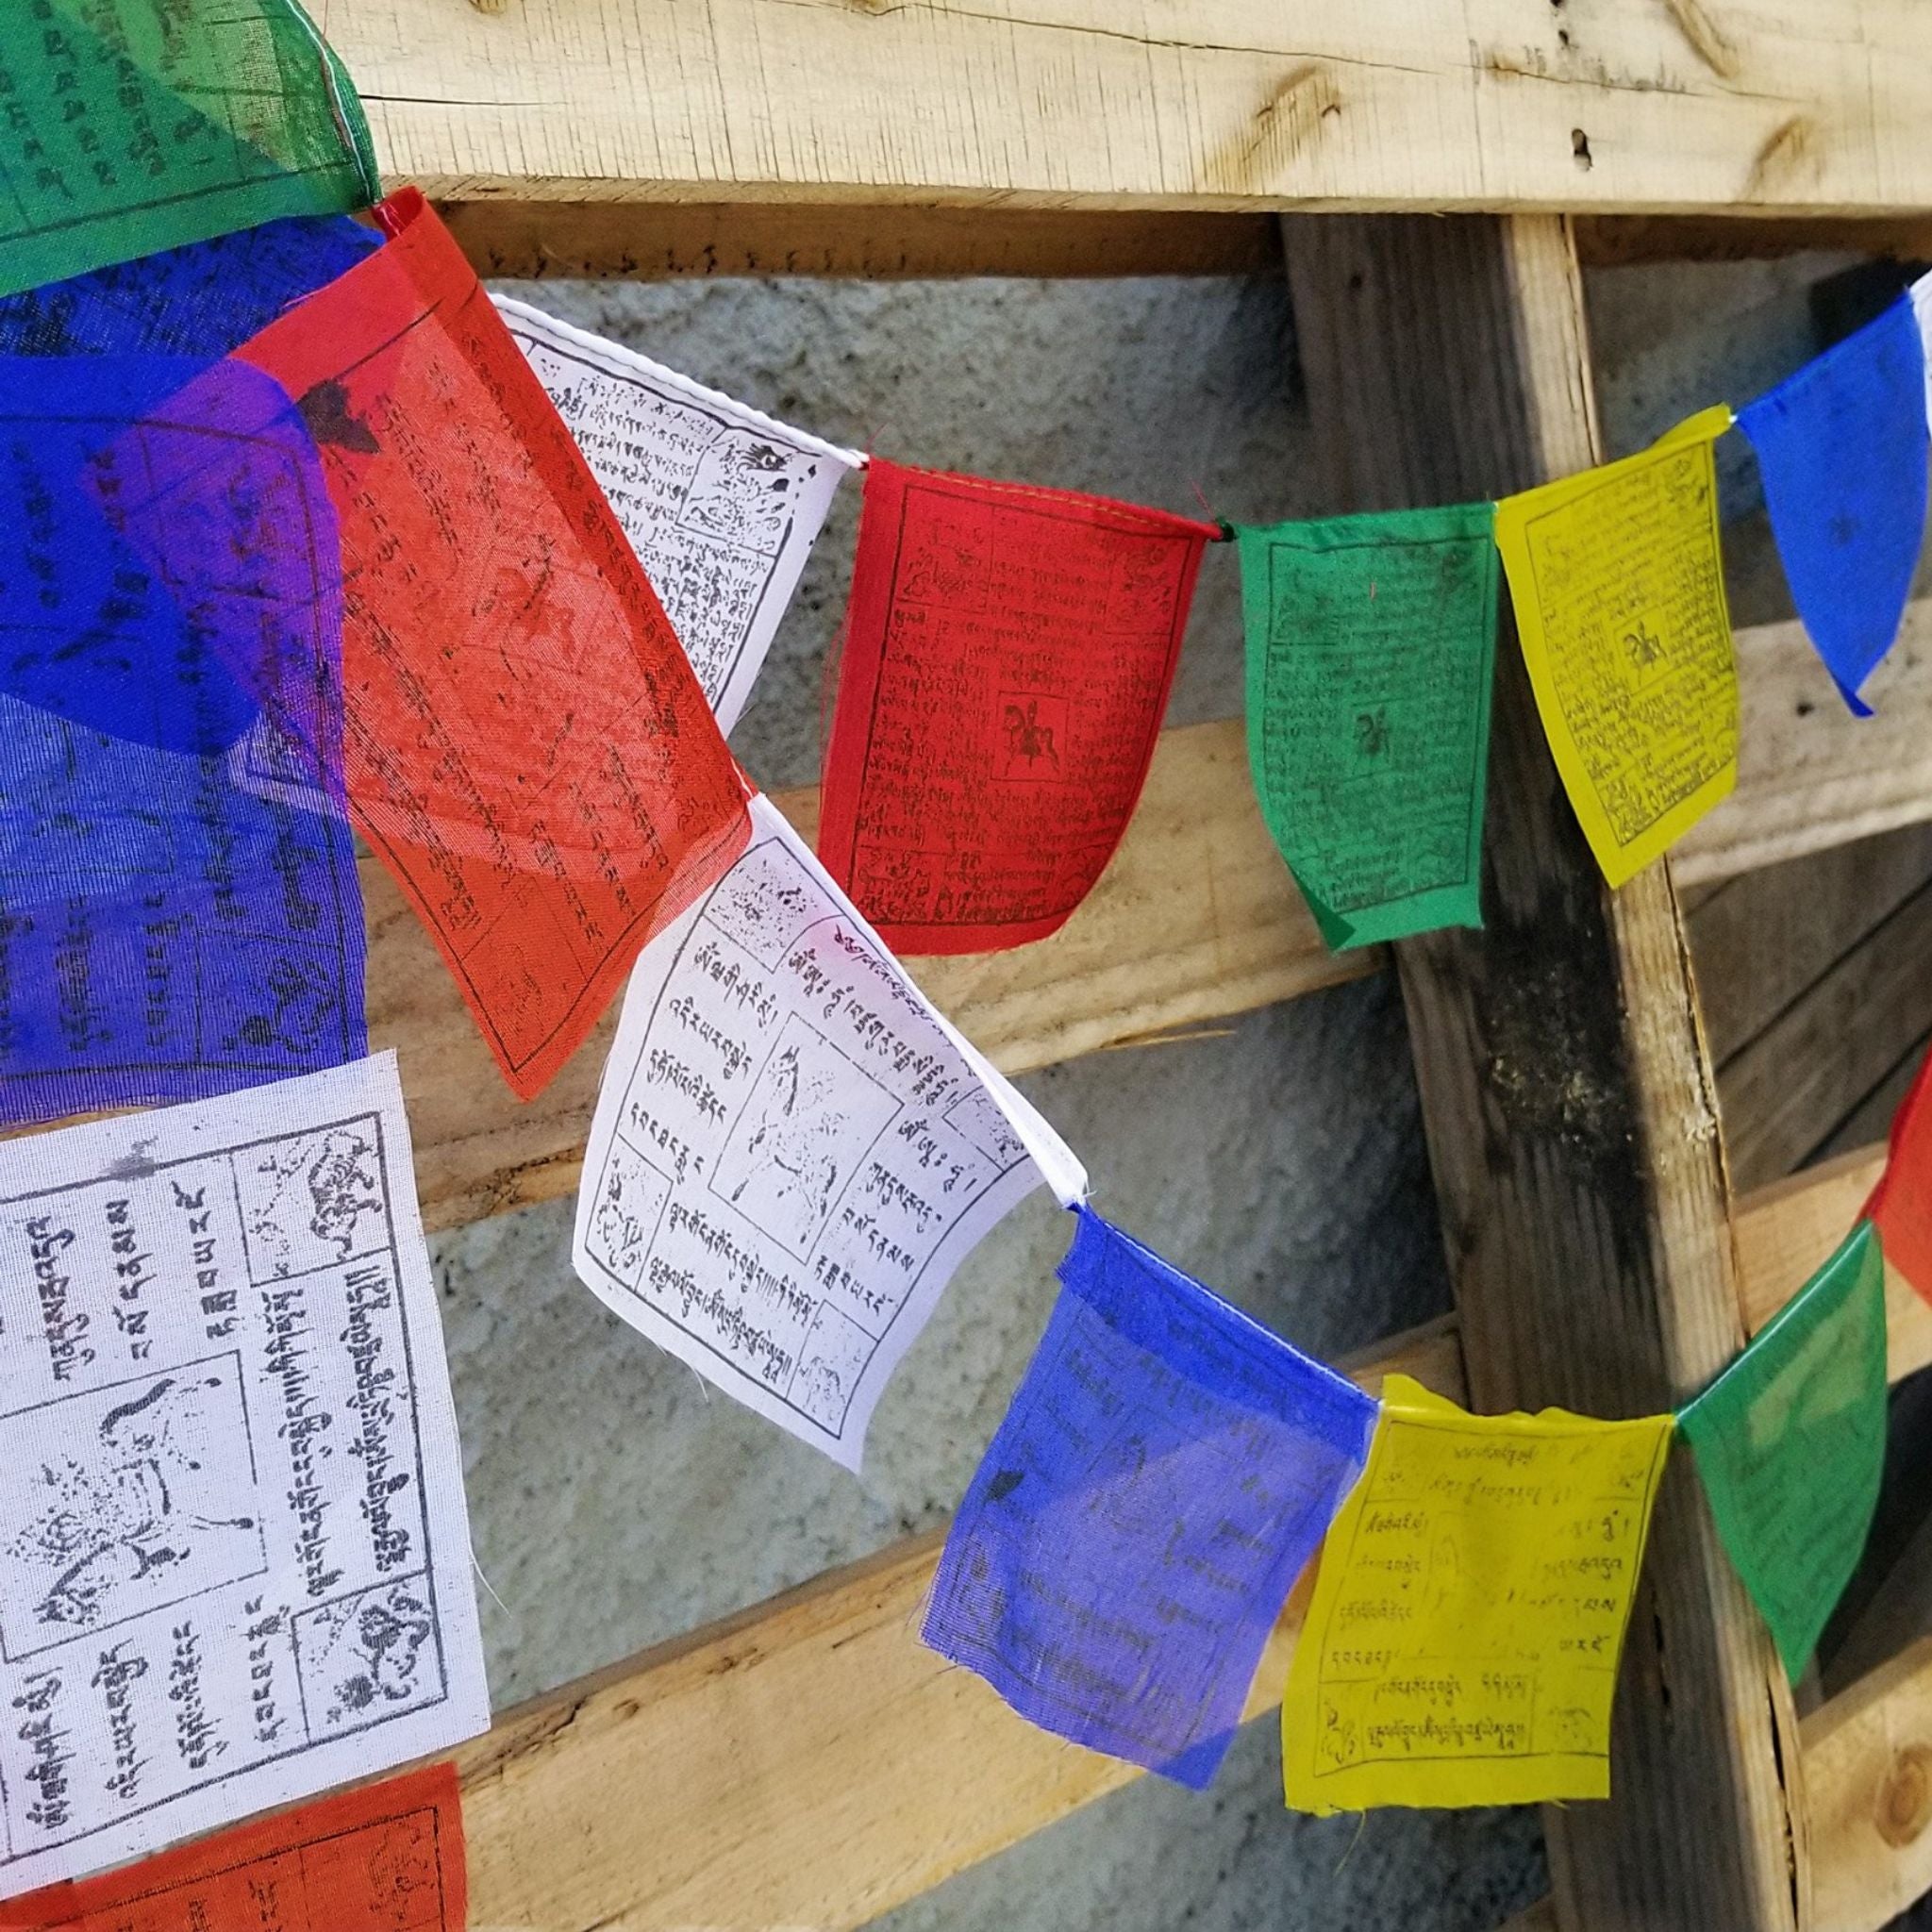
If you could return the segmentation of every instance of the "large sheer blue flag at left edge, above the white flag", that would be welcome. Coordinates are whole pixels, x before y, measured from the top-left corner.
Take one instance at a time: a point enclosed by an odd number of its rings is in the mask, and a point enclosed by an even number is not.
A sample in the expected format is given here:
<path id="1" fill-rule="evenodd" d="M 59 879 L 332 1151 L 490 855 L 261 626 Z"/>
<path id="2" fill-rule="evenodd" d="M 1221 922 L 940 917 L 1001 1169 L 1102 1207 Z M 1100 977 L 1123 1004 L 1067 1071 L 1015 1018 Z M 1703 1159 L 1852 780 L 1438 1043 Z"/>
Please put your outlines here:
<path id="1" fill-rule="evenodd" d="M 234 763 L 270 697 L 319 777 L 330 759 L 340 773 L 334 522 L 286 396 L 226 363 L 0 357 L 0 527 L 15 537 L 0 564 L 0 1119 L 359 1057 L 348 825 L 261 796 Z"/>

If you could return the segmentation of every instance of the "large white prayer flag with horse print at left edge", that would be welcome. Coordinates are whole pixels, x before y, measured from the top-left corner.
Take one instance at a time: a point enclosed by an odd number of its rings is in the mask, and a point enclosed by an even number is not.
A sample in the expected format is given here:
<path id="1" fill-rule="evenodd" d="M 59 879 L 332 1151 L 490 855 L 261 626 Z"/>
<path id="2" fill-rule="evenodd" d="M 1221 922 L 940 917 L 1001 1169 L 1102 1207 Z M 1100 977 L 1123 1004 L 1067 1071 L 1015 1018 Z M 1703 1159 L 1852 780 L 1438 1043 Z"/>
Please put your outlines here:
<path id="1" fill-rule="evenodd" d="M 489 1723 L 396 1059 L 0 1146 L 0 1895 Z"/>

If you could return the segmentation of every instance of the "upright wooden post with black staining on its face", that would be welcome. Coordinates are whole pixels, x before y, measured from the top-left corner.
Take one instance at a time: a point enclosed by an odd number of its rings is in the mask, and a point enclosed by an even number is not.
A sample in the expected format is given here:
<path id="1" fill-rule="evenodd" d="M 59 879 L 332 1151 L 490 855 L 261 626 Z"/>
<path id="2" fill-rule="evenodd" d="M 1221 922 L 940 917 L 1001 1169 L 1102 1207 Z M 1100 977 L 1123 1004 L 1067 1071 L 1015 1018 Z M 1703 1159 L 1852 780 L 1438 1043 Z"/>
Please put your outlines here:
<path id="1" fill-rule="evenodd" d="M 1569 224 L 1291 216 L 1333 508 L 1503 495 L 1600 460 Z M 1716 1090 L 1665 866 L 1609 895 L 1507 622 L 1484 933 L 1397 949 L 1478 1408 L 1654 1414 L 1743 1345 Z M 1546 1812 L 1559 1922 L 1789 1932 L 1797 1729 L 1687 1459 L 1631 1617 L 1607 1804 Z"/>

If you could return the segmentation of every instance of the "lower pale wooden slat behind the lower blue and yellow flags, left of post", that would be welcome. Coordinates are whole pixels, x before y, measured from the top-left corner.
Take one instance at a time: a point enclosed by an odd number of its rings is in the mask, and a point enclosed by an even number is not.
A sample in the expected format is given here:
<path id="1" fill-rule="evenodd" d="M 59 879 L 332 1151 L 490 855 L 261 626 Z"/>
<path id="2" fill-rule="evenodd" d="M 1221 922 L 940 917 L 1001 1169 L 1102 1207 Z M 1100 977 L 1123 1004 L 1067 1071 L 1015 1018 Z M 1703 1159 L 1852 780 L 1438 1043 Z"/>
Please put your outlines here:
<path id="1" fill-rule="evenodd" d="M 1457 1395 L 1445 1325 L 1358 1370 Z M 539 1698 L 458 1754 L 469 1920 L 541 1932 L 860 1926 L 1138 1772 L 1036 1731 L 916 1629 L 922 1536 Z M 1250 1716 L 1281 1700 L 1291 1600 Z"/>

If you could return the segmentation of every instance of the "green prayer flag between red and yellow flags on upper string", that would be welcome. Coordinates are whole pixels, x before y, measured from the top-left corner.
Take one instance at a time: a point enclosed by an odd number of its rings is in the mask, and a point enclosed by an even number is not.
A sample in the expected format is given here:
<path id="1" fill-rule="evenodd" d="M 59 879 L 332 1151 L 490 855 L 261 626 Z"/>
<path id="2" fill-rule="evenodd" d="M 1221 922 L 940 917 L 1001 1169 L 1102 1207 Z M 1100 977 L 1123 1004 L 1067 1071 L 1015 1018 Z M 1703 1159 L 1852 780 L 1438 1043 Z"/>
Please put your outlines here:
<path id="1" fill-rule="evenodd" d="M 1331 947 L 1482 925 L 1495 506 L 1236 529 L 1248 761 Z"/>

